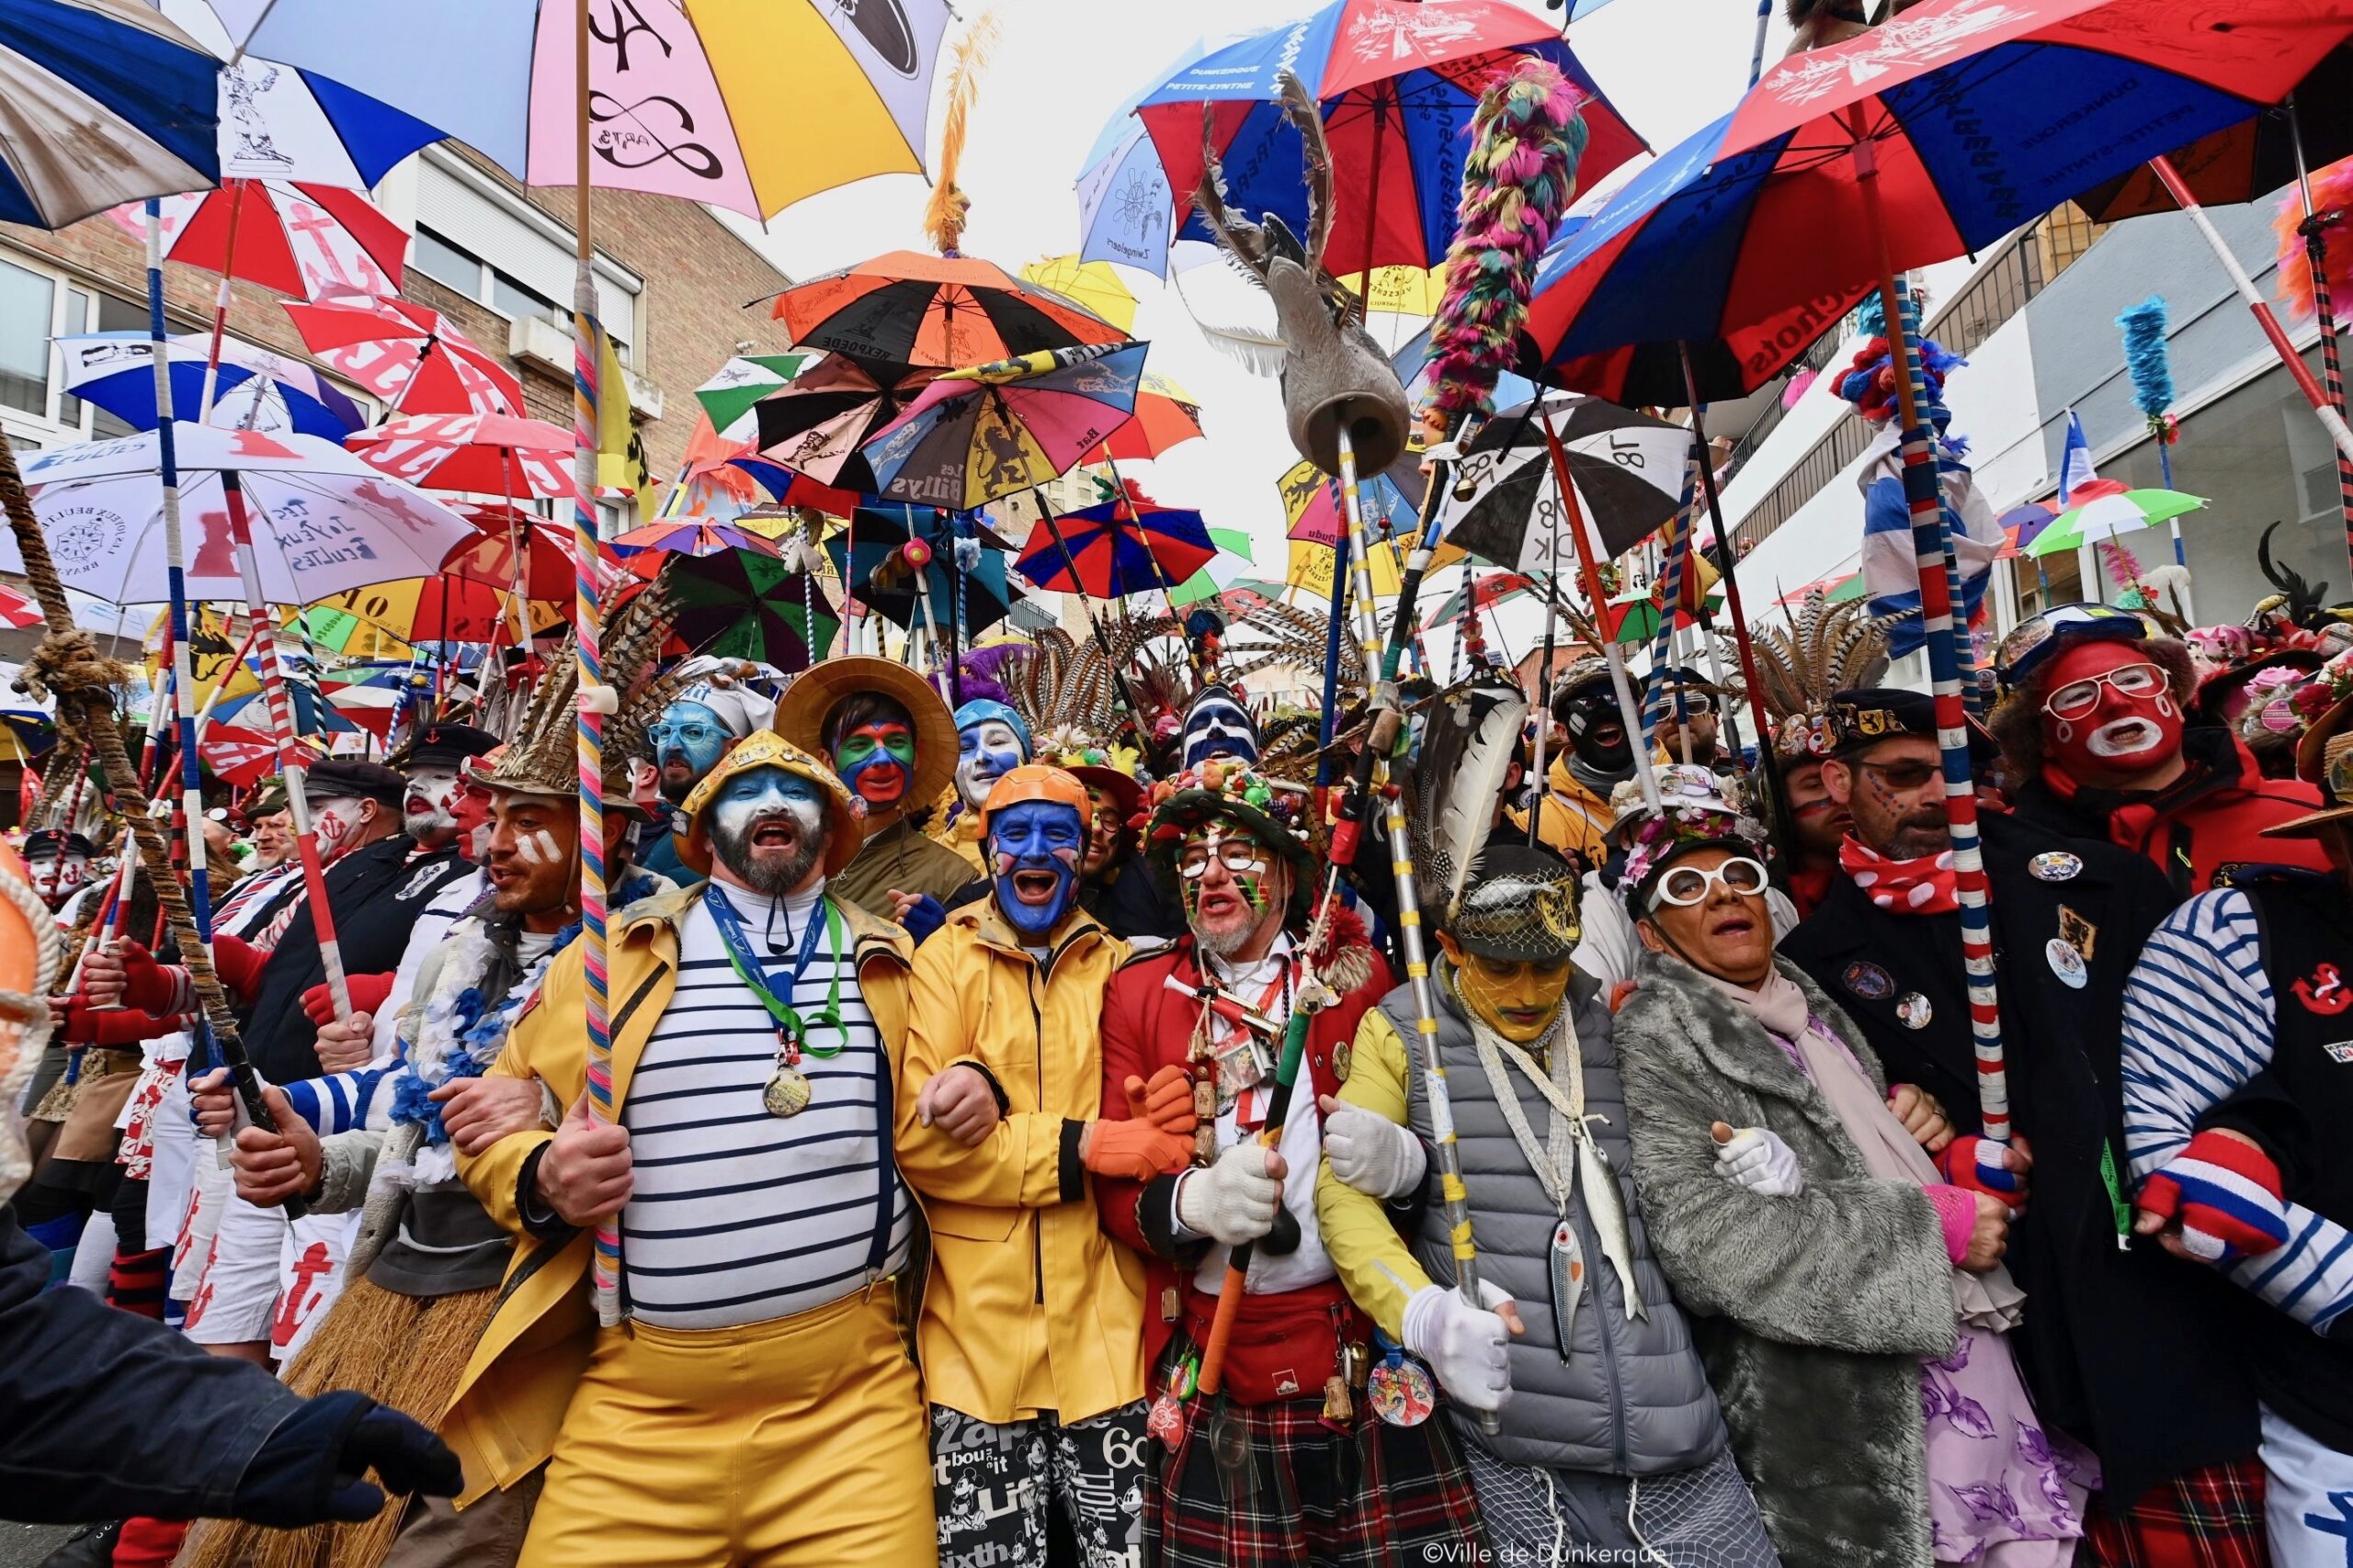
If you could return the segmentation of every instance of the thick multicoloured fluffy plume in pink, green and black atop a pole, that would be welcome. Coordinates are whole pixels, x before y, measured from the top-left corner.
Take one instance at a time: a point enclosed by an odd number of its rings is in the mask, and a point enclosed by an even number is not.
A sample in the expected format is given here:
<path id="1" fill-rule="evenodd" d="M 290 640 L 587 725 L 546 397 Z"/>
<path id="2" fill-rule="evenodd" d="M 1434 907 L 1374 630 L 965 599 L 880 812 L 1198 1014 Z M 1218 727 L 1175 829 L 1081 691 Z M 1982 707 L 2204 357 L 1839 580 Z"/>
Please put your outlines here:
<path id="1" fill-rule="evenodd" d="M 1518 353 L 1537 259 L 1577 195 L 1588 132 L 1560 68 L 1525 59 L 1480 96 L 1471 136 L 1461 226 L 1431 327 L 1428 411 L 1447 423 L 1494 407 L 1497 376 Z"/>

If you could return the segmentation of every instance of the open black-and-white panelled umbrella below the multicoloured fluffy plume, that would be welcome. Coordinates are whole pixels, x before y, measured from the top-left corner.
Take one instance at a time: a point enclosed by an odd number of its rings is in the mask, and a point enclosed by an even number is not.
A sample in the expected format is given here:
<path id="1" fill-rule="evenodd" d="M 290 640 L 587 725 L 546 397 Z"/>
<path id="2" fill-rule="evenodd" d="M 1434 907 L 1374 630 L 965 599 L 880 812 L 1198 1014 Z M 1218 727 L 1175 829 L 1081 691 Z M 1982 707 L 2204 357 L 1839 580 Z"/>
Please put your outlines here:
<path id="1" fill-rule="evenodd" d="M 1692 433 L 1600 397 L 1553 393 L 1504 409 L 1471 440 L 1440 512 L 1440 536 L 1449 545 L 1506 571 L 1548 571 L 1555 548 L 1562 559 L 1577 559 L 1577 543 L 1558 529 L 1565 517 L 1546 423 L 1569 458 L 1593 559 L 1617 559 L 1675 515 Z"/>

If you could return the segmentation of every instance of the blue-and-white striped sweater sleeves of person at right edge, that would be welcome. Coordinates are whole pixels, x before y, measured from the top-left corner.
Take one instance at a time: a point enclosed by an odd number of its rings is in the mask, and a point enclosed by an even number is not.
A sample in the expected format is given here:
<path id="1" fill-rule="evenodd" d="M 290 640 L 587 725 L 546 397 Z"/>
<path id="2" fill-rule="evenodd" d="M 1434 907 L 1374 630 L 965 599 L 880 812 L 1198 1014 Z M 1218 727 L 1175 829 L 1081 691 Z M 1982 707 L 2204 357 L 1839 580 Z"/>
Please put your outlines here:
<path id="1" fill-rule="evenodd" d="M 2278 1013 L 2254 903 L 2200 893 L 2141 950 L 2125 985 L 2125 1157 L 2134 1180 L 2172 1161 L 2200 1117 L 2271 1065 Z M 2287 1204 L 2287 1244 L 2231 1276 L 2313 1331 L 2353 1307 L 2353 1234 Z"/>

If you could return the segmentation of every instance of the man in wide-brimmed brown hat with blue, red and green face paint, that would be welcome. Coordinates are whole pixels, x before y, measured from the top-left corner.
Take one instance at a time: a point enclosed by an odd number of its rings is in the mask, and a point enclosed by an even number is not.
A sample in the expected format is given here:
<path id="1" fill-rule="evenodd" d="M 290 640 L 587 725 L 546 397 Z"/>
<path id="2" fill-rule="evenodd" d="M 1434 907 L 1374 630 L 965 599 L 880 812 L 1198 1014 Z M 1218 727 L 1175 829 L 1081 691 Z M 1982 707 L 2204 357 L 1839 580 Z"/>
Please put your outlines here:
<path id="1" fill-rule="evenodd" d="M 929 682 L 889 658 L 828 658 L 786 689 L 776 733 L 831 757 L 864 804 L 866 842 L 833 896 L 915 940 L 936 931 L 974 863 L 922 830 L 955 773 L 955 722 Z"/>

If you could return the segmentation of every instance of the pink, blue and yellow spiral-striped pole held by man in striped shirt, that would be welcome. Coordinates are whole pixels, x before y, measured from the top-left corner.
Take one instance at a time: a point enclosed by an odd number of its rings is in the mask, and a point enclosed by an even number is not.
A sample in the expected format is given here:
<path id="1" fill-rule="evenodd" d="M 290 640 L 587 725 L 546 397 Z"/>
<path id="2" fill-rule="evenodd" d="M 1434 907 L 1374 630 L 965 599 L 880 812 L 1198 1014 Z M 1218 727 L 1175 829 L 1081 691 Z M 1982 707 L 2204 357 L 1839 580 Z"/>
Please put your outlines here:
<path id="1" fill-rule="evenodd" d="M 574 661 L 579 670 L 579 799 L 581 799 L 581 978 L 588 1025 L 588 1117 L 614 1121 L 612 1100 L 612 1020 L 605 1013 L 605 715 L 619 708 L 605 684 L 598 649 L 598 376 L 602 374 L 602 329 L 595 320 L 595 249 L 588 240 L 588 0 L 574 2 L 572 21 L 572 614 Z M 431 341 L 426 343 L 431 350 Z M 419 367 L 424 353 L 419 353 Z M 414 386 L 414 376 L 409 378 Z M 407 388 L 402 388 L 405 393 Z M 621 1215 L 595 1225 L 591 1265 L 598 1324 L 621 1321 Z"/>

